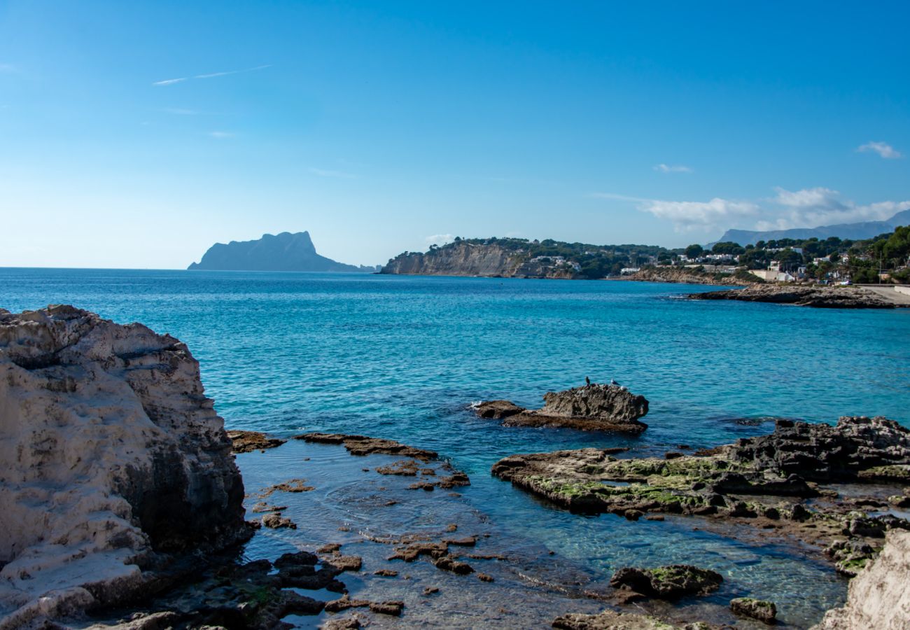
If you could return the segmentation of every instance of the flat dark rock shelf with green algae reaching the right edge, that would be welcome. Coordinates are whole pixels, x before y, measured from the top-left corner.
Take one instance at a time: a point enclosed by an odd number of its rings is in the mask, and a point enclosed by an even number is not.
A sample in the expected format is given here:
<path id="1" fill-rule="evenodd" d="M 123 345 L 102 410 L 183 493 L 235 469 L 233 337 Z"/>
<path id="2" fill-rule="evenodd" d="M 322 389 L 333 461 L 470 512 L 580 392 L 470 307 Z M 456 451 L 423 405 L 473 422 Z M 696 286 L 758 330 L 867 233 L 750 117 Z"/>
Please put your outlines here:
<path id="1" fill-rule="evenodd" d="M 512 455 L 492 473 L 581 513 L 688 514 L 754 525 L 824 548 L 851 575 L 885 533 L 910 522 L 875 493 L 848 496 L 818 483 L 910 484 L 910 430 L 885 418 L 844 417 L 836 426 L 779 421 L 771 435 L 671 459 L 616 459 L 612 450 Z M 903 494 L 888 497 L 898 503 Z M 807 502 L 806 500 L 810 500 Z"/>

